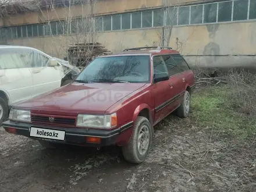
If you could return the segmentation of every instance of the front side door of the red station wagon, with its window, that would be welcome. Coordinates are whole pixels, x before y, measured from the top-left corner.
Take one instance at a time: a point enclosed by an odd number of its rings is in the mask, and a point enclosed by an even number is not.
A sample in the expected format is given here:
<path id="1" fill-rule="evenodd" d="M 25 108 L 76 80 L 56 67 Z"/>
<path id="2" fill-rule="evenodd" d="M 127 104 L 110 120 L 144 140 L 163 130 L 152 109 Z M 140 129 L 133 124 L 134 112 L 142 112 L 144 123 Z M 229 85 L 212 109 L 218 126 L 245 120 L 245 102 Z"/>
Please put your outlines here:
<path id="1" fill-rule="evenodd" d="M 165 62 L 162 59 L 162 56 L 153 56 L 152 62 L 154 74 L 168 74 L 168 70 L 166 68 Z M 152 91 L 155 99 L 155 123 L 158 123 L 170 113 L 169 105 L 170 101 L 174 97 L 174 94 L 171 91 L 170 82 L 168 80 L 154 83 Z"/>

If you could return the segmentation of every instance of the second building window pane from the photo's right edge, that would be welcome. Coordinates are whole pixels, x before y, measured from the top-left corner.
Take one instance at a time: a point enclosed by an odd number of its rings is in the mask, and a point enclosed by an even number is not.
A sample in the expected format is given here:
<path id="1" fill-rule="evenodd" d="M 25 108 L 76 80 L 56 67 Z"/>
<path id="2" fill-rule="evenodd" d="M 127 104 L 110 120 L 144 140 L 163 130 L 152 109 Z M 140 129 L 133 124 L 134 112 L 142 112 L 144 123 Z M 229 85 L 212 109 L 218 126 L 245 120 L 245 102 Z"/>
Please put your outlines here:
<path id="1" fill-rule="evenodd" d="M 233 20 L 246 20 L 248 10 L 248 0 L 238 0 L 234 1 L 234 12 Z"/>

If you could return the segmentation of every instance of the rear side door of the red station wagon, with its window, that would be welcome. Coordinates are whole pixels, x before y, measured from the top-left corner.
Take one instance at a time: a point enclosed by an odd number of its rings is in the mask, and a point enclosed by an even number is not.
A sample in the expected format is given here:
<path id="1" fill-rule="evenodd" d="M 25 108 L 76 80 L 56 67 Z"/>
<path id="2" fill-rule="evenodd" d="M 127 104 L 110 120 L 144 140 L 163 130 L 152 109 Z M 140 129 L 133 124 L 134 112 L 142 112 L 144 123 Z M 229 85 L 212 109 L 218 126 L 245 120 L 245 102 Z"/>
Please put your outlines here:
<path id="1" fill-rule="evenodd" d="M 177 63 L 172 55 L 163 55 L 163 60 L 165 61 L 168 73 L 170 76 L 170 92 L 172 95 L 172 102 L 169 105 L 168 110 L 170 112 L 174 111 L 182 102 L 183 94 L 183 79 L 181 76 L 181 70 L 177 66 Z"/>

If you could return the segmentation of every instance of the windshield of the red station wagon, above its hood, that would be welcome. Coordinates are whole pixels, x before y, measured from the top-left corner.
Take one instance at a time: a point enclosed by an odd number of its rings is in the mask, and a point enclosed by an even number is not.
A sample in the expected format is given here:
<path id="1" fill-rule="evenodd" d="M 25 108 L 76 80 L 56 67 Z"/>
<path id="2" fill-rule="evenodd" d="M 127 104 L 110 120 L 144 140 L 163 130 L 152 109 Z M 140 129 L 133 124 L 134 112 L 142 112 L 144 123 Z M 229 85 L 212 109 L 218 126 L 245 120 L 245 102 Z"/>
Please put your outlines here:
<path id="1" fill-rule="evenodd" d="M 96 58 L 77 76 L 77 82 L 148 83 L 150 56 L 128 55 Z"/>

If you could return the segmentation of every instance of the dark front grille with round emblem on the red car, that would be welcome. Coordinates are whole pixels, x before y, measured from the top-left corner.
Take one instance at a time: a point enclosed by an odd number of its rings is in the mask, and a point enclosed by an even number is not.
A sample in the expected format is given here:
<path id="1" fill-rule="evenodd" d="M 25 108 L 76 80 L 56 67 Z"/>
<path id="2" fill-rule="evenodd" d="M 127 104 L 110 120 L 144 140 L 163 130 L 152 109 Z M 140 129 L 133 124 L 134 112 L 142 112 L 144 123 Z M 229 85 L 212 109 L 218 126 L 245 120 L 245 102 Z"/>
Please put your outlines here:
<path id="1" fill-rule="evenodd" d="M 72 125 L 74 126 L 76 119 L 74 118 L 55 118 L 52 116 L 38 116 L 31 115 L 31 122 L 34 123 L 44 123 L 47 125 Z"/>

